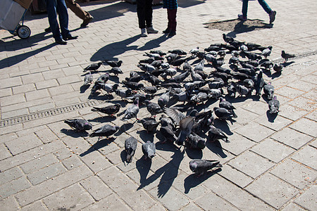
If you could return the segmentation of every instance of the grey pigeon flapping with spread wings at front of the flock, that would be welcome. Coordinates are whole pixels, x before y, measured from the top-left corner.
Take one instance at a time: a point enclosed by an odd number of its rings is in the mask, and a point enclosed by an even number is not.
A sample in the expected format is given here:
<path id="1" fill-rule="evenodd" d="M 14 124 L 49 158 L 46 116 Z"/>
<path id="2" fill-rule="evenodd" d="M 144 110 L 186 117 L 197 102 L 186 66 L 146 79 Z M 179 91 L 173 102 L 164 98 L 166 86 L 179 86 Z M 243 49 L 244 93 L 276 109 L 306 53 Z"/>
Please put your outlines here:
<path id="1" fill-rule="evenodd" d="M 195 117 L 197 115 L 197 110 L 194 109 L 189 113 L 189 116 L 185 117 L 184 119 L 180 120 L 180 134 L 178 139 L 176 139 L 175 143 L 181 146 L 185 139 L 192 133 L 192 127 L 195 123 Z"/>

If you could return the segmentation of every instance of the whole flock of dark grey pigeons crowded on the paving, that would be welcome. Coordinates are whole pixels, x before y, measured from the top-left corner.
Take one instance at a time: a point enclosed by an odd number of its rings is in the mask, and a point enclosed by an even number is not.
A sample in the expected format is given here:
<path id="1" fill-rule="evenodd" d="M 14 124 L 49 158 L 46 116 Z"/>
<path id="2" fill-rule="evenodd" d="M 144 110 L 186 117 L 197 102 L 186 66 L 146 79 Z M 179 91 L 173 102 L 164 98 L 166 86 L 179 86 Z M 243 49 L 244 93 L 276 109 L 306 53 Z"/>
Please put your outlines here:
<path id="1" fill-rule="evenodd" d="M 235 107 L 230 103 L 230 99 L 235 98 L 237 94 L 245 97 L 263 94 L 263 98 L 268 101 L 269 113 L 277 115 L 280 103 L 274 96 L 273 85 L 264 81 L 263 72 L 271 71 L 272 68 L 275 72 L 281 72 L 283 63 L 274 64 L 268 59 L 272 46 L 237 41 L 226 34 L 223 34 L 223 40 L 225 44 L 211 44 L 204 51 L 197 47 L 189 53 L 181 49 L 174 49 L 168 53 L 162 51 L 145 53 L 146 57 L 137 65 L 142 71 L 131 71 L 130 77 L 126 77 L 120 84 L 109 84 L 108 79 L 109 74 L 118 77 L 118 74 L 123 73 L 120 69 L 121 60 L 93 63 L 84 69 L 84 72 L 88 72 L 85 75 L 84 86 L 92 84 L 92 72 L 98 72 L 101 65 L 110 65 L 112 69 L 94 82 L 91 96 L 104 90 L 108 95 L 120 96 L 122 101 L 132 101 L 132 105 L 122 113 L 121 120 L 136 118 L 148 133 L 157 130 L 163 135 L 164 140 L 161 141 L 175 143 L 180 147 L 203 150 L 206 141 L 223 140 L 229 143 L 225 132 L 213 125 L 215 118 L 232 121 L 232 118 L 237 117 Z M 231 58 L 228 64 L 224 65 L 227 55 L 231 55 Z M 294 57 L 293 54 L 285 51 L 282 51 L 281 56 L 285 62 L 288 58 Z M 189 64 L 191 60 L 194 61 Z M 207 68 L 210 71 L 207 72 Z M 149 82 L 151 86 L 145 86 L 142 81 Z M 119 89 L 119 86 L 125 88 Z M 161 94 L 158 100 L 154 101 L 158 90 L 161 90 Z M 206 106 L 208 102 L 210 104 L 216 101 L 219 101 L 218 106 L 212 109 Z M 198 105 L 204 108 L 200 112 L 197 110 Z M 150 118 L 142 120 L 137 118 L 140 106 L 147 108 L 151 114 Z M 116 103 L 103 108 L 94 107 L 92 110 L 114 116 L 120 108 L 121 104 Z M 156 115 L 160 113 L 163 114 L 159 120 L 156 120 Z M 75 119 L 65 122 L 79 131 L 92 129 L 92 124 L 87 120 Z M 157 129 L 159 124 L 161 127 Z M 89 136 L 99 136 L 99 139 L 101 136 L 108 138 L 119 129 L 119 126 L 105 124 Z M 208 134 L 204 133 L 206 129 Z M 127 162 L 132 161 L 137 143 L 137 139 L 132 136 L 125 140 Z M 143 143 L 142 151 L 144 159 L 153 158 L 156 153 L 155 144 L 151 141 Z M 194 159 L 189 163 L 189 167 L 199 176 L 221 165 L 217 160 Z"/>

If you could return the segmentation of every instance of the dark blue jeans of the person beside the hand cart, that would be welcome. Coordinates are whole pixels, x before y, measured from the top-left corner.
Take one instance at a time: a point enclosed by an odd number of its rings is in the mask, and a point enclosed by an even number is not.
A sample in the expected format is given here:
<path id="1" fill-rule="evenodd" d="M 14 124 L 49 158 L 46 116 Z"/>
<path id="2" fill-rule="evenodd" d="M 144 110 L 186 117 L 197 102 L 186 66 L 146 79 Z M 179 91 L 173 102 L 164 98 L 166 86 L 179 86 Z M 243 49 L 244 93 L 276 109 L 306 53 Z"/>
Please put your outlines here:
<path id="1" fill-rule="evenodd" d="M 46 0 L 47 15 L 49 18 L 49 27 L 55 40 L 66 39 L 70 35 L 68 30 L 68 12 L 65 0 Z M 57 23 L 57 13 L 61 32 Z"/>

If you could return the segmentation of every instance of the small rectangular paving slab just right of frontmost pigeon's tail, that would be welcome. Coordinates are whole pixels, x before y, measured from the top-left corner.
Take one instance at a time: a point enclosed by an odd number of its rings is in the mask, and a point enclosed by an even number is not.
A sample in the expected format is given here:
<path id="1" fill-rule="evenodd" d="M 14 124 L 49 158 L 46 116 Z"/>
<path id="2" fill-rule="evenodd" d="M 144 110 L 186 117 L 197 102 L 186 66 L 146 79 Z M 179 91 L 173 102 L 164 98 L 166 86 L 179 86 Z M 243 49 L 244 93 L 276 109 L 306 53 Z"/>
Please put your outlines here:
<path id="1" fill-rule="evenodd" d="M 218 174 L 225 177 L 225 179 L 232 181 L 234 184 L 237 184 L 237 186 L 240 186 L 241 188 L 244 188 L 253 181 L 251 177 L 248 177 L 246 174 L 243 174 L 238 170 L 235 170 L 229 165 L 223 165 L 221 171 L 218 172 Z"/>

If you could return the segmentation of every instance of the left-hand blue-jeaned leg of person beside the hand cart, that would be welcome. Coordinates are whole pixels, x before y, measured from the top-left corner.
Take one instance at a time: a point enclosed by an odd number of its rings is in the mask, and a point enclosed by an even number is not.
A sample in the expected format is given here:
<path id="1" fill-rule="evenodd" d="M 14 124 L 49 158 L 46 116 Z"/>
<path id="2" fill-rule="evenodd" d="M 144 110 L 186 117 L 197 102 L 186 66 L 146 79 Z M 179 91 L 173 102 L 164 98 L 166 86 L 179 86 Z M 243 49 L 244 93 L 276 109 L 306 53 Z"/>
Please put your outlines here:
<path id="1" fill-rule="evenodd" d="M 59 31 L 58 23 L 57 23 L 57 13 L 56 13 L 57 1 L 56 0 L 46 0 L 46 10 L 47 16 L 49 18 L 49 27 L 51 28 L 51 32 L 53 33 L 53 37 L 55 40 L 61 40 L 61 32 Z"/>

